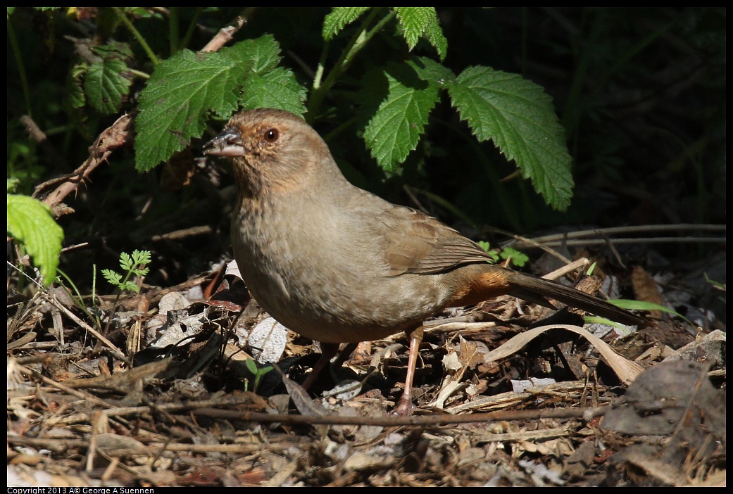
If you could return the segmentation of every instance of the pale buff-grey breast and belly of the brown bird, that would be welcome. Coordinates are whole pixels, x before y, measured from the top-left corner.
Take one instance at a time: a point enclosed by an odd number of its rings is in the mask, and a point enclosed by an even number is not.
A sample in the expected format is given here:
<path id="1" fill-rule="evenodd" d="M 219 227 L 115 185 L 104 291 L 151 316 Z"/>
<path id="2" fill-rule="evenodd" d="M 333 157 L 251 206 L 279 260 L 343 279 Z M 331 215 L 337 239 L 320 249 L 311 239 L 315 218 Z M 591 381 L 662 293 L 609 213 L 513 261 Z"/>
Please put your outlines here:
<path id="1" fill-rule="evenodd" d="M 388 276 L 378 246 L 360 243 L 354 228 L 353 221 L 339 226 L 334 215 L 242 208 L 232 220 L 232 246 L 257 302 L 321 342 L 380 339 L 442 308 L 449 295 L 437 277 Z"/>

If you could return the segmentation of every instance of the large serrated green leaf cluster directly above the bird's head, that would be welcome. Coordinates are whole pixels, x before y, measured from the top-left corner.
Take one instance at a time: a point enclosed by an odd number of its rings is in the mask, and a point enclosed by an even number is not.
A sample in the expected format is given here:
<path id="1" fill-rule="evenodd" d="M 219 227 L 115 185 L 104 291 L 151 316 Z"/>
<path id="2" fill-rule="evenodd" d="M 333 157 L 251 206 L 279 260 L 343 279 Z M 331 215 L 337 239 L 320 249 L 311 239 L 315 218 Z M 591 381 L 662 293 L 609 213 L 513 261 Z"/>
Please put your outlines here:
<path id="1" fill-rule="evenodd" d="M 295 88 L 289 70 L 276 68 L 279 61 L 279 45 L 267 35 L 216 53 L 183 50 L 158 64 L 140 95 L 137 169 L 152 169 L 183 150 L 191 137 L 201 136 L 207 111 L 228 118 L 237 109 L 243 87 L 245 98 L 252 98 L 250 83 L 262 92 L 262 100 L 253 99 L 253 104 L 305 113 L 305 93 Z"/>

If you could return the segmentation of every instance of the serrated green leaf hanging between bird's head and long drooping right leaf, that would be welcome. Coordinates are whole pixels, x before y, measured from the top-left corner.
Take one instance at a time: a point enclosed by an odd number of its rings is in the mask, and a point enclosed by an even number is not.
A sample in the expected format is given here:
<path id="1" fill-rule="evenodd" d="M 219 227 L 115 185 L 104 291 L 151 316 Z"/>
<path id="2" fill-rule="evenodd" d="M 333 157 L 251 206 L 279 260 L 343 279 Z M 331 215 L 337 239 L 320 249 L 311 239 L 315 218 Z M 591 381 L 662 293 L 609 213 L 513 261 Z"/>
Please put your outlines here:
<path id="1" fill-rule="evenodd" d="M 430 59 L 413 59 L 407 64 L 389 64 L 381 74 L 383 81 L 368 85 L 370 91 L 377 85 L 386 86 L 378 107 L 367 108 L 372 117 L 364 128 L 364 142 L 383 169 L 394 171 L 417 147 L 438 101 L 438 89 L 452 76 Z"/>

